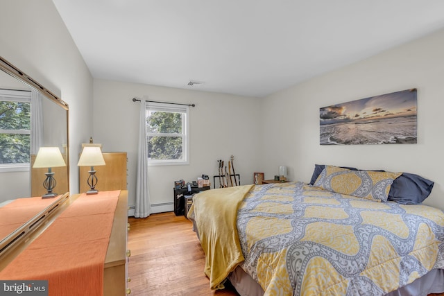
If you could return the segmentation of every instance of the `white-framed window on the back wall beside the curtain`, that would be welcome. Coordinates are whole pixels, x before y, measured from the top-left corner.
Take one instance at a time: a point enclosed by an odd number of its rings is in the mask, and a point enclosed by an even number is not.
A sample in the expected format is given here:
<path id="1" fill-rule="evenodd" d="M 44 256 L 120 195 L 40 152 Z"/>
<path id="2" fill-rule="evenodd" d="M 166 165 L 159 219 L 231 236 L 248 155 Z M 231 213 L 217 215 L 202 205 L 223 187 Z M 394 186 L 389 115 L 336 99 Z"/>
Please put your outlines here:
<path id="1" fill-rule="evenodd" d="M 189 107 L 146 102 L 148 165 L 189 164 Z"/>

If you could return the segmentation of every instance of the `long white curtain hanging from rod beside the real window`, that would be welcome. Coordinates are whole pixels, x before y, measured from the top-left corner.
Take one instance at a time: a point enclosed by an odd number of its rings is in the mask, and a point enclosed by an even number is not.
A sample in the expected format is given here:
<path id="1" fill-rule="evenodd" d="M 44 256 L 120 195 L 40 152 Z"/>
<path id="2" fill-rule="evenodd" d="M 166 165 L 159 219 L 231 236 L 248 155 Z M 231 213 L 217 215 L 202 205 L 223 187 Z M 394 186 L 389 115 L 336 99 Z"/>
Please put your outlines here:
<path id="1" fill-rule="evenodd" d="M 150 193 L 148 191 L 148 153 L 146 151 L 146 102 L 140 101 L 139 148 L 137 153 L 136 218 L 146 218 L 151 214 Z"/>

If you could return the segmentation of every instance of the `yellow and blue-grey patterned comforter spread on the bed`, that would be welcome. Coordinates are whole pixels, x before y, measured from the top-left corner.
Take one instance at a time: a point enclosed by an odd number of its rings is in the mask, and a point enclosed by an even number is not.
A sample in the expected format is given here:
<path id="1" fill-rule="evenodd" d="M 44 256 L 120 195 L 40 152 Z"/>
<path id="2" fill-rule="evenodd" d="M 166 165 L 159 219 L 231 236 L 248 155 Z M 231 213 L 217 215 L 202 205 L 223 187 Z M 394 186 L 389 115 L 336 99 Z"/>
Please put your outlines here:
<path id="1" fill-rule="evenodd" d="M 237 229 L 265 295 L 384 295 L 444 267 L 443 211 L 301 182 L 255 186 Z"/>

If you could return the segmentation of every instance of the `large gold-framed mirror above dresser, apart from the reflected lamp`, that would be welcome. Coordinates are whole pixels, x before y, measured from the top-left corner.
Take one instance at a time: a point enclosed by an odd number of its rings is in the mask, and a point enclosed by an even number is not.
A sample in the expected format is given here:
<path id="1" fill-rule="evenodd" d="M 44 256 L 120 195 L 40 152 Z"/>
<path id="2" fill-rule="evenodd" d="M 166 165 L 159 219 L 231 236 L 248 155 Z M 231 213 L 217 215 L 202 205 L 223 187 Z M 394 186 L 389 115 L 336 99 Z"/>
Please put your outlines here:
<path id="1" fill-rule="evenodd" d="M 1 254 L 67 199 L 69 145 L 67 103 L 1 57 L 0 70 Z M 41 198 L 48 168 L 32 168 L 43 146 L 60 148 L 67 164 L 52 168 L 55 198 Z"/>

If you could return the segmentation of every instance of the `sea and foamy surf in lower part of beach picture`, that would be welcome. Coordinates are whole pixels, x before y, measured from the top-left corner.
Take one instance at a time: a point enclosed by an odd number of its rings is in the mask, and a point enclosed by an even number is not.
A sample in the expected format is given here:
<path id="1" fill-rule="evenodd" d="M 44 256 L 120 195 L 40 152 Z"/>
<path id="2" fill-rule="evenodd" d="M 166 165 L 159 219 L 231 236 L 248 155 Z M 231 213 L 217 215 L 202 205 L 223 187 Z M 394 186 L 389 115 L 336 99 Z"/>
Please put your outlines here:
<path id="1" fill-rule="evenodd" d="M 321 125 L 321 145 L 416 143 L 416 114 Z"/>

